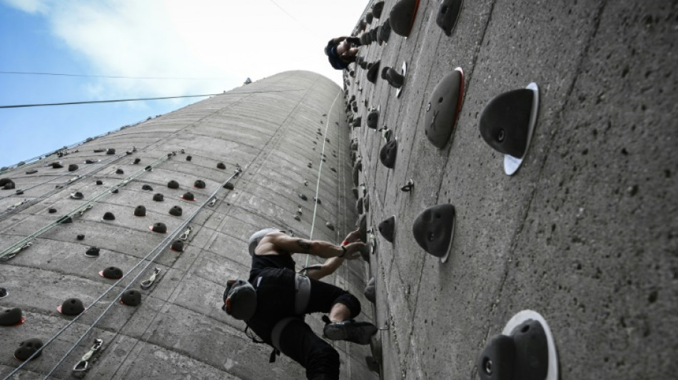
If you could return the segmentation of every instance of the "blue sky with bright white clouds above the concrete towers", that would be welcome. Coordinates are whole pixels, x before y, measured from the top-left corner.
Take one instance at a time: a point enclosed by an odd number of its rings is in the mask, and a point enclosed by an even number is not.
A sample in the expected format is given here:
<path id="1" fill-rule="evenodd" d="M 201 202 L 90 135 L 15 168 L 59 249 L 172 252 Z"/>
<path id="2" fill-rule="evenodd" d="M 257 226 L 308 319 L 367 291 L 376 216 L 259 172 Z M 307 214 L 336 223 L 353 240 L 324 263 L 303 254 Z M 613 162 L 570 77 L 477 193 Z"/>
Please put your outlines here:
<path id="1" fill-rule="evenodd" d="M 365 6 L 362 0 L 0 0 L 0 71 L 212 78 L 0 73 L 0 105 L 221 93 L 247 77 L 294 69 L 340 83 L 323 46 L 350 33 Z M 0 108 L 0 166 L 199 99 Z"/>

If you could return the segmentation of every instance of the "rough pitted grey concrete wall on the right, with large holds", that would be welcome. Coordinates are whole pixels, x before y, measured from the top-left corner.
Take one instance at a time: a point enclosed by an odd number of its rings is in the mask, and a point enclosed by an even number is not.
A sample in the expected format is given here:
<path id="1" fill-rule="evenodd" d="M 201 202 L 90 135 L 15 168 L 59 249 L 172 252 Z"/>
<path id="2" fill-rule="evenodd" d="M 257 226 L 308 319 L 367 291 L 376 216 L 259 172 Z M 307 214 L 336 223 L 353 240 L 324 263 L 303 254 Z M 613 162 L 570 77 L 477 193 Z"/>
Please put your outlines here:
<path id="1" fill-rule="evenodd" d="M 395 2 L 387 2 L 388 15 Z M 677 4 L 644 1 L 465 1 L 452 36 L 422 2 L 405 39 L 360 48 L 408 76 L 400 98 L 355 68 L 346 98 L 380 106 L 398 138 L 393 170 L 380 133 L 353 130 L 370 225 L 377 319 L 390 325 L 384 379 L 477 379 L 487 339 L 522 309 L 550 324 L 561 379 L 669 379 L 678 371 Z M 369 7 L 368 7 L 369 9 Z M 383 16 L 385 19 L 385 16 Z M 373 21 L 372 26 L 383 20 Z M 429 94 L 460 66 L 465 96 L 450 143 L 424 135 Z M 480 138 L 478 115 L 500 93 L 540 86 L 535 135 L 509 177 Z M 365 106 L 367 101 L 368 106 Z M 344 105 L 345 106 L 345 105 Z M 412 178 L 415 187 L 401 192 Z M 426 207 L 457 210 L 447 263 L 413 240 Z"/>

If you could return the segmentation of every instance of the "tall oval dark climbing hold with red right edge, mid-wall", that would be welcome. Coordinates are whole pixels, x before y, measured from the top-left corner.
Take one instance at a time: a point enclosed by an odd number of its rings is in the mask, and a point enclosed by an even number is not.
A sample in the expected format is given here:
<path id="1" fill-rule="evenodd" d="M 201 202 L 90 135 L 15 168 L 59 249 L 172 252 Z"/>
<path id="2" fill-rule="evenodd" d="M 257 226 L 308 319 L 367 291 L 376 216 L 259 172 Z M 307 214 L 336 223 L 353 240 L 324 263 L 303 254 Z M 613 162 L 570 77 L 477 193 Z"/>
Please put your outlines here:
<path id="1" fill-rule="evenodd" d="M 424 118 L 424 133 L 435 148 L 445 148 L 457 124 L 464 96 L 464 73 L 461 68 L 447 73 L 435 86 Z"/>

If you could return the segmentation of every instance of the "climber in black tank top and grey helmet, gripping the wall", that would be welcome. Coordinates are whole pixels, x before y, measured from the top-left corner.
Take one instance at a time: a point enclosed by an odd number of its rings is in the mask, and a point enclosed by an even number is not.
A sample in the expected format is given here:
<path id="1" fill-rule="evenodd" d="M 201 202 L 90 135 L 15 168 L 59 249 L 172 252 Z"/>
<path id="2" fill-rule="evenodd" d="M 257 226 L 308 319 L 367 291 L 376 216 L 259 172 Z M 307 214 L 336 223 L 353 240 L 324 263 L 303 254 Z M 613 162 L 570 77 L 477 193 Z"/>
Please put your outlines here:
<path id="1" fill-rule="evenodd" d="M 360 302 L 353 294 L 319 281 L 335 272 L 344 260 L 360 257 L 358 230 L 350 232 L 342 245 L 320 240 L 290 237 L 269 228 L 256 232 L 249 240 L 252 268 L 247 281 L 229 280 L 223 295 L 223 310 L 244 320 L 263 342 L 273 346 L 275 354 L 289 356 L 306 369 L 310 380 L 339 379 L 339 354 L 320 339 L 304 315 L 329 313 L 324 335 L 331 340 L 368 344 L 377 327 L 356 322 Z M 322 257 L 325 263 L 312 265 L 303 276 L 294 271 L 294 253 Z"/>

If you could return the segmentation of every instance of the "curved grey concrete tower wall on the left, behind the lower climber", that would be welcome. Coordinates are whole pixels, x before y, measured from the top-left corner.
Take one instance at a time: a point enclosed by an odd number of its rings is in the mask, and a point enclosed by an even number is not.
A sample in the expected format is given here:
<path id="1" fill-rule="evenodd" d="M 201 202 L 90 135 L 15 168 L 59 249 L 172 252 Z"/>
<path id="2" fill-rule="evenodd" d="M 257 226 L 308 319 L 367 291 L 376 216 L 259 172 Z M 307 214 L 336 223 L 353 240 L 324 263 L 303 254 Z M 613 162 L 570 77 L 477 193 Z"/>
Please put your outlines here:
<path id="1" fill-rule="evenodd" d="M 309 237 L 313 228 L 313 238 L 339 242 L 353 229 L 356 215 L 348 197 L 351 168 L 345 143 L 349 132 L 338 128 L 345 123 L 342 103 L 340 88 L 327 78 L 308 72 L 281 73 L 84 143 L 58 159 L 64 168 L 46 167 L 57 160 L 50 156 L 5 173 L 3 177 L 12 178 L 17 189 L 35 187 L 23 195 L 0 192 L 1 210 L 28 201 L 0 215 L 2 250 L 87 205 L 93 197 L 107 195 L 83 215 L 74 216 L 71 224 L 42 233 L 32 247 L 3 263 L 0 286 L 9 289 L 9 297 L 1 299 L 0 306 L 21 307 L 26 323 L 3 327 L 0 375 L 18 365 L 12 353 L 19 342 L 30 337 L 46 342 L 74 318 L 56 312 L 61 302 L 78 297 L 89 305 L 110 289 L 17 377 L 42 377 L 51 371 L 111 306 L 53 377 L 69 378 L 93 339 L 101 337 L 103 350 L 89 375 L 97 379 L 303 378 L 303 368 L 284 356 L 268 364 L 270 347 L 246 337 L 245 324 L 221 311 L 221 297 L 227 279 L 248 276 L 246 242 L 256 230 L 280 227 Z M 107 155 L 108 148 L 115 148 L 115 155 Z M 93 152 L 99 149 L 104 151 Z M 152 171 L 143 170 L 172 152 Z M 85 160 L 98 161 L 85 164 Z M 71 163 L 78 164 L 79 170 L 68 173 Z M 226 169 L 217 168 L 218 163 Z M 314 223 L 320 163 L 320 202 Z M 238 165 L 243 172 L 231 180 L 235 190 L 221 188 Z M 122 174 L 116 174 L 118 168 Z M 31 169 L 38 172 L 26 174 Z M 117 193 L 110 193 L 113 186 L 137 174 Z M 55 188 L 76 175 L 83 177 Z M 97 180 L 103 184 L 96 185 Z M 176 180 L 179 188 L 168 188 L 170 180 Z M 195 188 L 196 180 L 203 180 L 206 187 Z M 153 190 L 142 190 L 143 185 Z M 84 200 L 71 199 L 76 191 L 84 194 Z M 194 201 L 182 199 L 188 191 L 195 195 Z M 207 205 L 215 191 L 215 202 Z M 153 201 L 156 193 L 164 195 L 162 202 Z M 308 200 L 301 200 L 300 193 Z M 146 216 L 133 215 L 138 205 L 146 207 Z M 173 206 L 181 207 L 182 215 L 170 215 Z M 49 213 L 52 207 L 57 211 Z M 298 207 L 303 210 L 300 221 L 294 219 Z M 116 219 L 102 220 L 104 212 L 113 212 Z M 169 250 L 167 238 L 185 232 L 184 224 L 195 212 L 184 252 Z M 168 233 L 148 230 L 156 222 L 165 223 Z M 326 222 L 335 229 L 325 227 Z M 79 234 L 85 235 L 84 240 L 76 239 Z M 99 257 L 84 255 L 92 246 L 101 249 Z M 305 264 L 305 257 L 298 257 L 298 263 Z M 146 265 L 148 269 L 140 273 Z M 128 277 L 118 284 L 100 277 L 98 271 L 109 266 L 120 267 Z M 139 282 L 153 268 L 161 272 L 155 284 L 141 289 L 141 305 L 119 304 L 117 294 L 137 276 L 131 288 L 139 289 Z M 373 320 L 362 295 L 365 275 L 365 265 L 355 261 L 327 281 L 356 294 L 365 305 L 359 319 Z M 308 322 L 322 331 L 319 317 L 309 317 Z M 342 379 L 375 377 L 365 364 L 368 348 L 345 342 L 335 346 Z"/>

